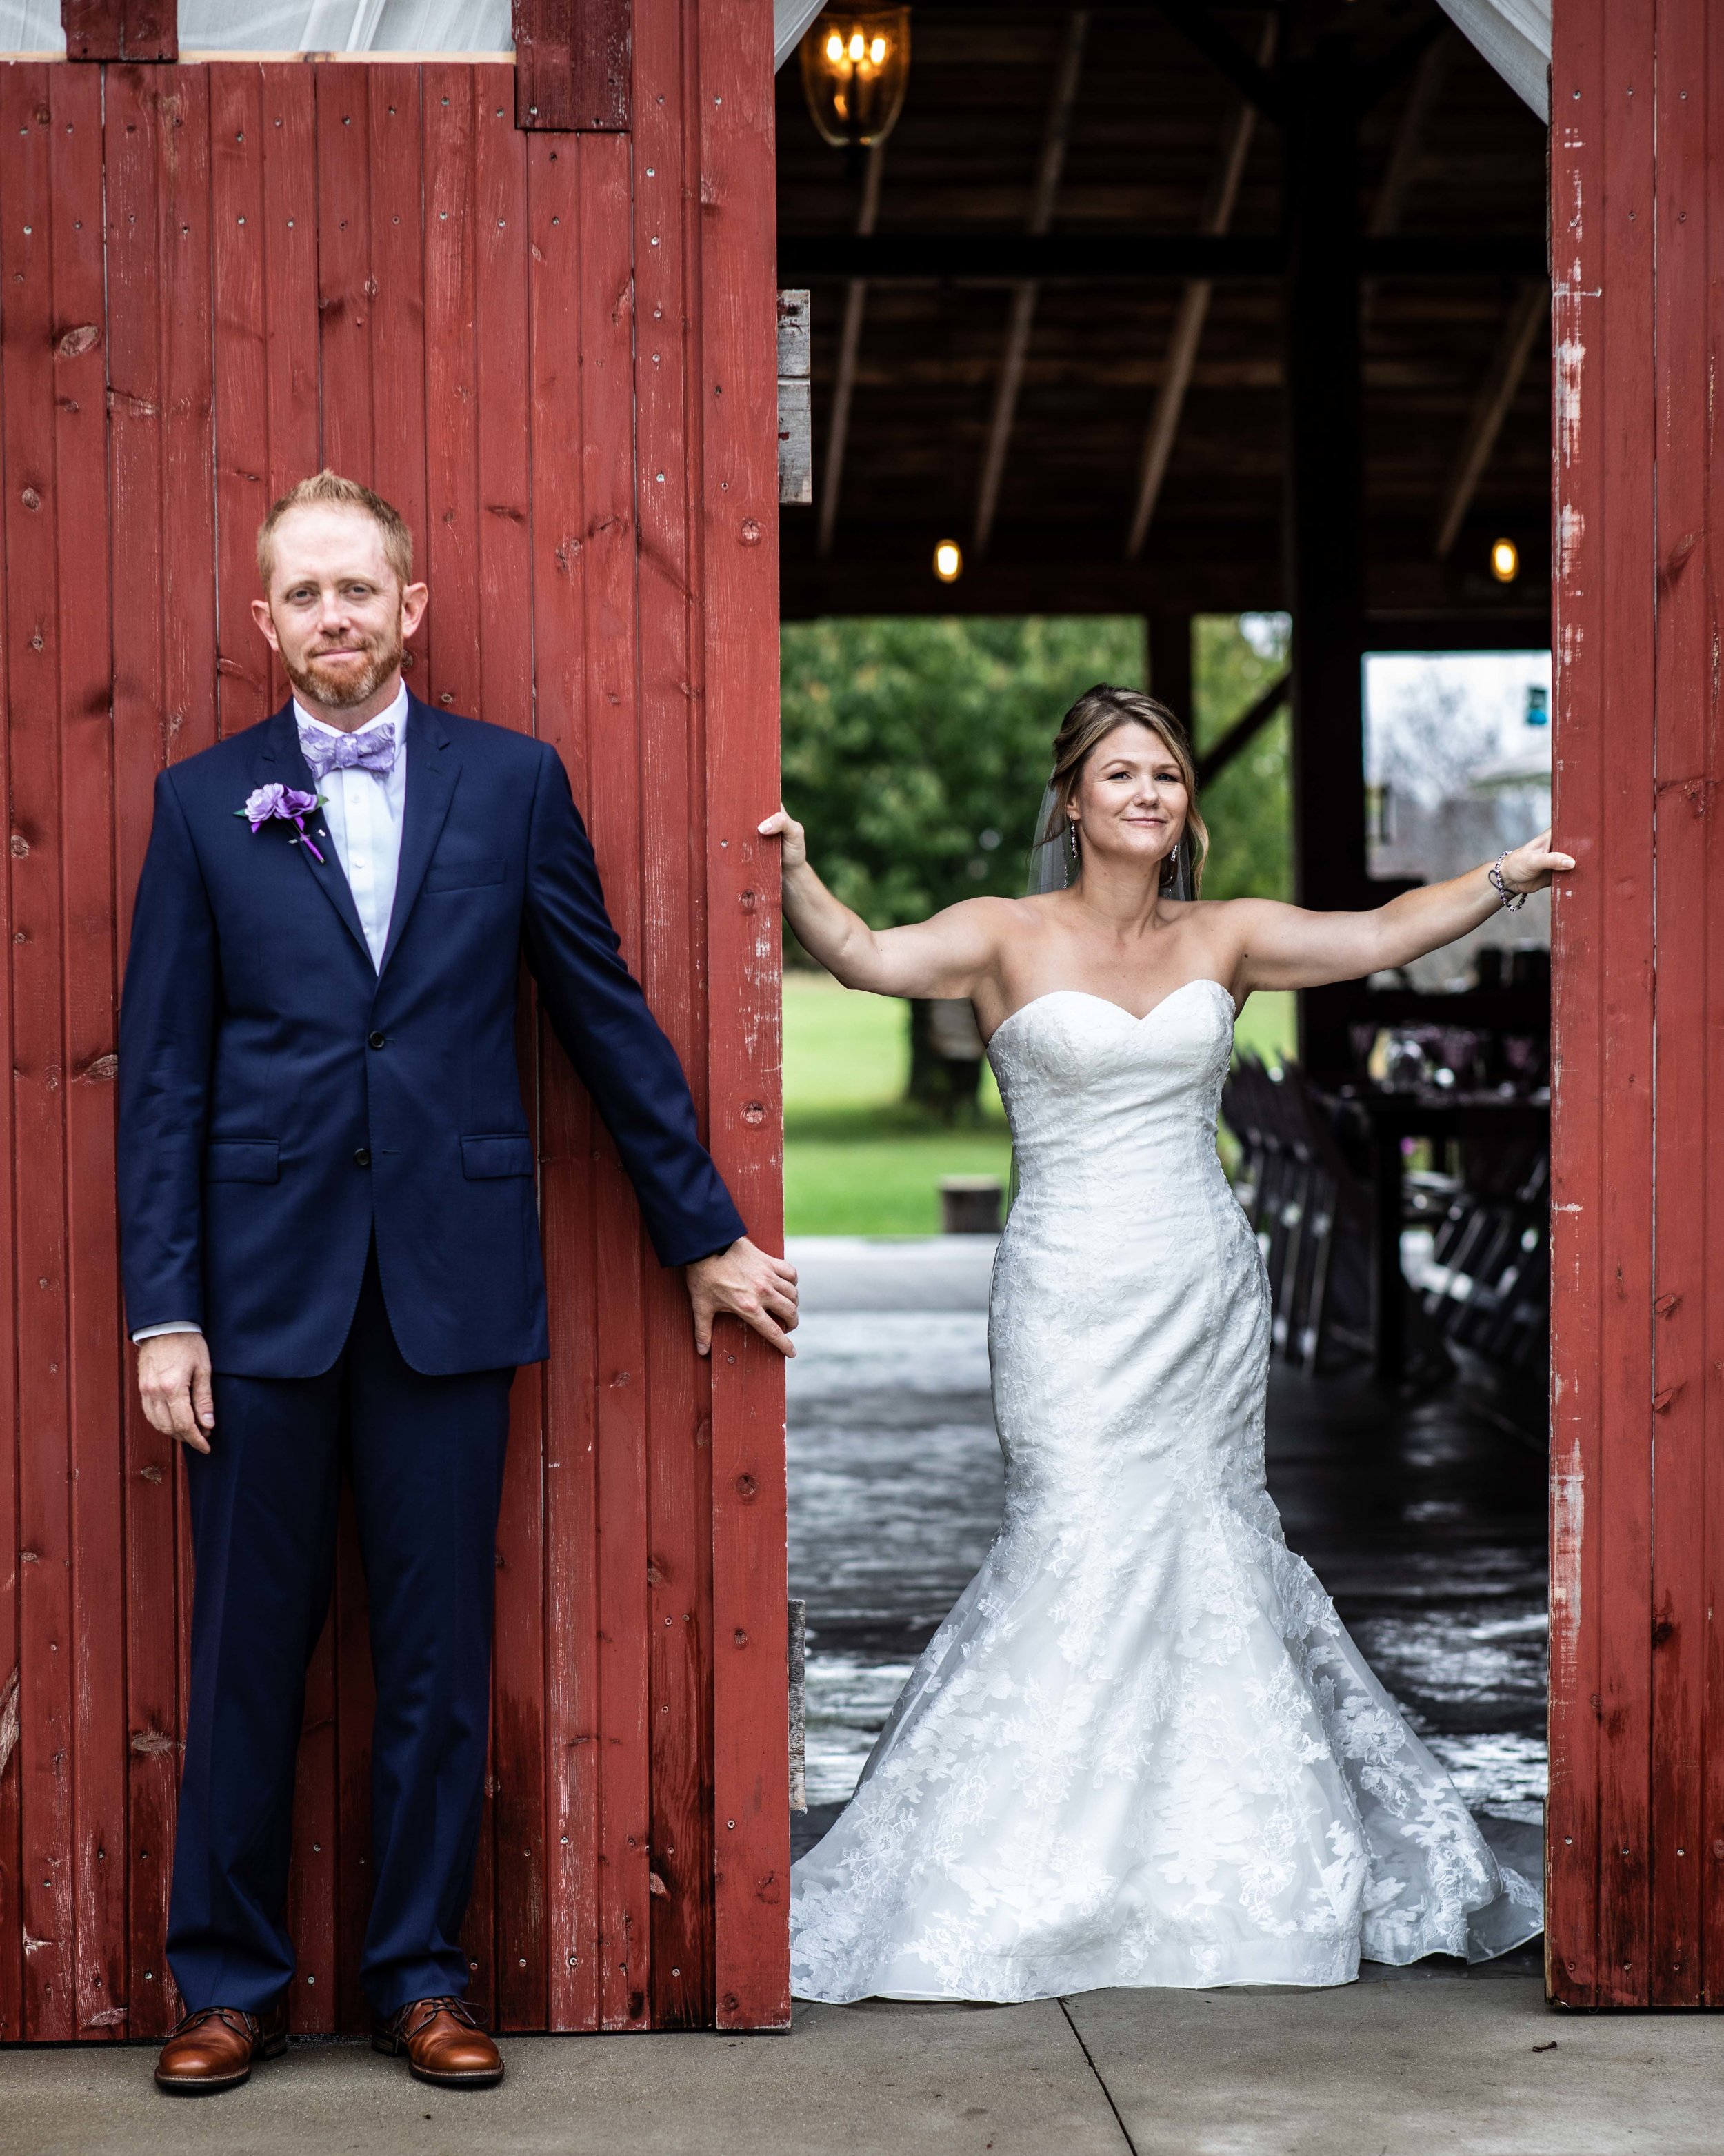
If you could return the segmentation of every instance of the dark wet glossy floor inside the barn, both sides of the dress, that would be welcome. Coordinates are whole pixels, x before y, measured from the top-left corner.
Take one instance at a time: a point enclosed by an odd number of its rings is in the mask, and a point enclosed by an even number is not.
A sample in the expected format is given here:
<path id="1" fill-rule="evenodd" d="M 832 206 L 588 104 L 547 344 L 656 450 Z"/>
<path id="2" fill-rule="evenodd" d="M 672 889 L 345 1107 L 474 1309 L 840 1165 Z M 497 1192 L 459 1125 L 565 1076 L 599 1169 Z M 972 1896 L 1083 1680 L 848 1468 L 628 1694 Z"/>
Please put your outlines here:
<path id="1" fill-rule="evenodd" d="M 789 1373 L 791 1593 L 808 1604 L 806 1846 L 1000 1522 L 983 1238 L 802 1238 Z M 1455 1395 L 1274 1365 L 1287 1539 L 1491 1839 L 1537 1865 L 1545 1796 L 1545 1462 Z"/>

